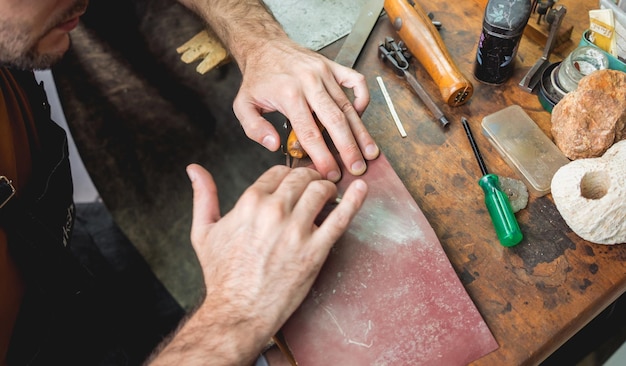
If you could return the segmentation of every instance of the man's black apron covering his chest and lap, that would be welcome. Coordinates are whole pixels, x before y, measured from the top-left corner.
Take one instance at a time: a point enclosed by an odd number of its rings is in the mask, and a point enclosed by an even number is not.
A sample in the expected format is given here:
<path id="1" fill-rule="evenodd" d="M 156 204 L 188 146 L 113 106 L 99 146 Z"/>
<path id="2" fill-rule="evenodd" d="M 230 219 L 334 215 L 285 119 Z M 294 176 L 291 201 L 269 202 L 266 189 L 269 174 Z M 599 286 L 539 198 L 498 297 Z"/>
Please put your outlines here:
<path id="1" fill-rule="evenodd" d="M 7 362 L 140 364 L 184 311 L 117 227 L 115 240 L 105 246 L 121 247 L 115 250 L 131 257 L 130 270 L 113 268 L 90 232 L 73 233 L 76 206 L 65 131 L 50 119 L 45 91 L 33 74 L 12 73 L 28 94 L 41 150 L 33 153 L 32 176 L 19 202 L 12 198 L 0 209 L 26 284 Z"/>

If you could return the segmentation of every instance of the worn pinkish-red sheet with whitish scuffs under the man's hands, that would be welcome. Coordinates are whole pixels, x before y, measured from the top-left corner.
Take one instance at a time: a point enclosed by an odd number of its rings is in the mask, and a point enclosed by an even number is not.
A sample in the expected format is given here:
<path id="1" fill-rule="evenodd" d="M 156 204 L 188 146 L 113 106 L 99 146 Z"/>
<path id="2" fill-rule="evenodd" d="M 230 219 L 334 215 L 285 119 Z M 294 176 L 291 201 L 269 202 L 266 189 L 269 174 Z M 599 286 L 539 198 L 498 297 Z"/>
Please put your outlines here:
<path id="1" fill-rule="evenodd" d="M 344 174 L 340 192 L 354 178 Z M 466 365 L 498 345 L 387 159 L 312 290 L 283 327 L 298 364 Z"/>

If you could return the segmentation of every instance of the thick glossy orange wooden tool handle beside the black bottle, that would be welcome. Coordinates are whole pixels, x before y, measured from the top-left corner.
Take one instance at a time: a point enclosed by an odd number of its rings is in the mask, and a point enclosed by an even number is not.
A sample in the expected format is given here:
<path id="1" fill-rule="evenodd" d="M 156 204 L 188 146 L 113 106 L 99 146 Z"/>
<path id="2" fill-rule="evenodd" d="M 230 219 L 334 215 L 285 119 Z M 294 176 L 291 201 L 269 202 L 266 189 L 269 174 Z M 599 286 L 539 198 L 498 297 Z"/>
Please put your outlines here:
<path id="1" fill-rule="evenodd" d="M 450 58 L 441 36 L 421 6 L 417 3 L 411 6 L 407 0 L 385 0 L 385 11 L 408 50 L 439 87 L 446 103 L 455 107 L 467 102 L 474 87 Z"/>

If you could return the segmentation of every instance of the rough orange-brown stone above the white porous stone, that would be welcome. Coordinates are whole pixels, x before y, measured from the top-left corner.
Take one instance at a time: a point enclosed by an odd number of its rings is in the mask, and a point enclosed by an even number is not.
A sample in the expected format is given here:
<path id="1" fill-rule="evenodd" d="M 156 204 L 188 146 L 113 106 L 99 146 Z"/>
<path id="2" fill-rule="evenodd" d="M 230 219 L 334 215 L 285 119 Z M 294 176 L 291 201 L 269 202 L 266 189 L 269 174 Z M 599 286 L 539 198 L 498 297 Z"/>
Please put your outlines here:
<path id="1" fill-rule="evenodd" d="M 554 143 L 571 160 L 599 157 L 626 138 L 626 73 L 600 70 L 580 80 L 552 111 Z"/>

